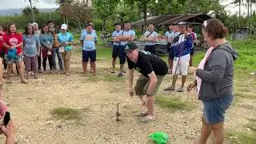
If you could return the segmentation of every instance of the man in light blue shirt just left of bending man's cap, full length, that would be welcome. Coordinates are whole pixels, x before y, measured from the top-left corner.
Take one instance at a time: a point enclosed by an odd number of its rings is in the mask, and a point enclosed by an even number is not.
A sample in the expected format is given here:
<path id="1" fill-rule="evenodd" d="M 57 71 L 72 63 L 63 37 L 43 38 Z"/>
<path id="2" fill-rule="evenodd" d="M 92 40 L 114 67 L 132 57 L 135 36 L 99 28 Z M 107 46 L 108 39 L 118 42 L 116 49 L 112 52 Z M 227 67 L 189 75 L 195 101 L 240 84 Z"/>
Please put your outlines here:
<path id="1" fill-rule="evenodd" d="M 115 64 L 117 62 L 117 58 L 119 57 L 119 62 L 121 62 L 121 55 L 120 54 L 120 40 L 118 39 L 119 32 L 121 30 L 121 25 L 120 24 L 115 24 L 115 31 L 112 33 L 112 39 L 114 41 L 113 44 L 113 50 L 112 50 L 112 68 L 113 70 L 111 73 L 115 73 Z M 120 64 L 121 65 L 121 64 Z"/>

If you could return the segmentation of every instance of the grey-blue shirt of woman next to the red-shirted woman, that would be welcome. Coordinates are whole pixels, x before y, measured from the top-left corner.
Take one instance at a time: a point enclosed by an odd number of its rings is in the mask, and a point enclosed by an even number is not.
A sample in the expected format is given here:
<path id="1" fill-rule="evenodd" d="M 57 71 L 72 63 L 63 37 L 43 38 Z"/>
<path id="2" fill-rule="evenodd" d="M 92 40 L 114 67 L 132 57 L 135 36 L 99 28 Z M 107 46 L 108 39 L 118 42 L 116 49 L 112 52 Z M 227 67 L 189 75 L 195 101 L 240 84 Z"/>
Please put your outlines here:
<path id="1" fill-rule="evenodd" d="M 26 34 L 22 35 L 23 39 L 23 54 L 27 57 L 35 57 L 38 54 L 38 47 L 40 41 L 38 35 L 34 34 L 32 37 L 28 37 Z"/>

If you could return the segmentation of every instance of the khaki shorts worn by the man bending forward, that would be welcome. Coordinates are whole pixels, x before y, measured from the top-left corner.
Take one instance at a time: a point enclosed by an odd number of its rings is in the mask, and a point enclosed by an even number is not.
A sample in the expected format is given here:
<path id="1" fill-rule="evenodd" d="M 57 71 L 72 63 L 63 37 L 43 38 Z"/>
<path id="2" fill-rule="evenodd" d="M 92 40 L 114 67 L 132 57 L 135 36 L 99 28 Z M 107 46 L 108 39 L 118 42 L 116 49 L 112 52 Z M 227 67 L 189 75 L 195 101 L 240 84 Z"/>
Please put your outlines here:
<path id="1" fill-rule="evenodd" d="M 165 77 L 165 75 L 163 75 L 163 76 L 157 75 L 158 83 L 157 83 L 157 85 L 155 86 L 152 95 L 157 94 L 158 88 L 159 88 L 159 86 L 161 85 L 162 79 L 163 79 L 164 77 Z M 149 86 L 150 86 L 150 78 L 146 78 L 146 77 L 142 74 L 142 75 L 138 78 L 138 81 L 137 81 L 137 83 L 136 83 L 136 86 L 134 87 L 135 94 L 136 94 L 136 95 L 144 95 L 144 94 L 146 94 L 146 91 L 148 90 Z"/>

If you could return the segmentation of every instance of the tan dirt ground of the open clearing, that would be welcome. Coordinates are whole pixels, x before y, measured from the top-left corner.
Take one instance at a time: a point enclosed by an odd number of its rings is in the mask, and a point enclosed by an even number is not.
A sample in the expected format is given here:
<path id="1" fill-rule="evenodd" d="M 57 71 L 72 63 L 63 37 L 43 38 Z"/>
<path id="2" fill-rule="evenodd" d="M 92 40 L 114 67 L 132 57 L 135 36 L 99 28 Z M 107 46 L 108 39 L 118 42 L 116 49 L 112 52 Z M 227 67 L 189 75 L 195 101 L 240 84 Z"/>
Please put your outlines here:
<path id="1" fill-rule="evenodd" d="M 158 95 L 180 98 L 182 102 L 186 102 L 189 96 L 188 103 L 193 104 L 193 110 L 170 110 L 156 105 L 156 120 L 142 123 L 135 116 L 141 108 L 139 99 L 136 96 L 130 97 L 127 92 L 127 74 L 121 80 L 107 81 L 107 78 L 101 77 L 106 74 L 111 77 L 110 61 L 98 58 L 97 67 L 98 78 L 94 78 L 92 74 L 84 77 L 81 74 L 81 54 L 74 53 L 69 77 L 64 74 L 40 74 L 38 79 L 30 78 L 29 84 L 24 85 L 19 83 L 18 76 L 14 76 L 13 83 L 3 87 L 3 93 L 4 100 L 10 103 L 17 142 L 150 143 L 147 137 L 156 131 L 169 134 L 169 143 L 197 142 L 201 129 L 202 104 L 195 91 L 191 94 L 169 94 L 163 91 L 170 85 L 171 77 L 167 75 Z M 112 74 L 113 77 L 115 75 Z M 135 76 L 138 77 L 138 74 Z M 190 75 L 188 82 L 192 80 Z M 238 79 L 235 83 L 249 87 L 251 93 L 256 92 L 255 78 Z M 115 120 L 118 102 L 122 122 Z M 239 102 L 235 103 L 226 113 L 225 131 L 246 131 L 244 125 L 249 122 L 248 118 L 255 118 L 256 98 L 239 98 Z M 81 118 L 54 118 L 50 112 L 58 107 L 77 109 L 81 112 Z M 3 137 L 0 142 L 4 142 Z M 226 143 L 230 142 L 226 140 Z"/>

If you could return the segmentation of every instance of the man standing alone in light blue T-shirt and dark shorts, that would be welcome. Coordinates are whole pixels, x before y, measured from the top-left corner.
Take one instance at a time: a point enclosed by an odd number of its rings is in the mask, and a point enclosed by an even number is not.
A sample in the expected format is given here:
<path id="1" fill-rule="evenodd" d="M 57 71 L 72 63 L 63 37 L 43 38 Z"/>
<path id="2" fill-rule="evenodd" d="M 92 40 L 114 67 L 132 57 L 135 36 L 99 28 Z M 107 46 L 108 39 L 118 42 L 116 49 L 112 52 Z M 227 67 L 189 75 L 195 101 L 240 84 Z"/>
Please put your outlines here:
<path id="1" fill-rule="evenodd" d="M 92 31 L 92 26 L 86 26 L 86 32 L 84 32 L 80 38 L 82 44 L 82 68 L 83 73 L 86 76 L 87 63 L 90 58 L 90 66 L 93 70 L 93 74 L 96 75 L 96 44 L 98 38 Z"/>

